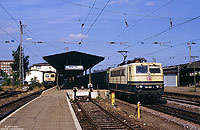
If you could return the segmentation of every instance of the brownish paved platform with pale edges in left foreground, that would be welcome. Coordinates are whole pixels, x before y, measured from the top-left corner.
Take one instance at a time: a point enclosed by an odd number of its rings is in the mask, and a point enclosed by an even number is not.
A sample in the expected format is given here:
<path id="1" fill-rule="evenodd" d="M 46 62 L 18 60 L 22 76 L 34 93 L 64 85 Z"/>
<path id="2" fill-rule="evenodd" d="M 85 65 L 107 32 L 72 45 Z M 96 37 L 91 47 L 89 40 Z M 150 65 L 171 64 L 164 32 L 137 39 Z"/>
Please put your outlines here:
<path id="1" fill-rule="evenodd" d="M 0 130 L 76 130 L 81 129 L 66 90 L 53 88 L 0 122 Z"/>

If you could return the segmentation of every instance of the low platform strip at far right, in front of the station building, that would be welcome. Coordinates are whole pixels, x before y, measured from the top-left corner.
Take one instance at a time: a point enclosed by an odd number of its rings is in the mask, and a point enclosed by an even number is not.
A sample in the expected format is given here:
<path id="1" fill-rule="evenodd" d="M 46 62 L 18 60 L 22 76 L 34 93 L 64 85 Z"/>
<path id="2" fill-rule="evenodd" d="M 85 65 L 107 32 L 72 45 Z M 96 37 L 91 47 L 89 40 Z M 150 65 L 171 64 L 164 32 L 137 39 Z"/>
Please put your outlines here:
<path id="1" fill-rule="evenodd" d="M 194 87 L 165 87 L 165 92 L 172 93 L 181 93 L 188 95 L 199 95 L 200 96 L 200 88 L 196 87 L 196 92 L 194 92 Z"/>

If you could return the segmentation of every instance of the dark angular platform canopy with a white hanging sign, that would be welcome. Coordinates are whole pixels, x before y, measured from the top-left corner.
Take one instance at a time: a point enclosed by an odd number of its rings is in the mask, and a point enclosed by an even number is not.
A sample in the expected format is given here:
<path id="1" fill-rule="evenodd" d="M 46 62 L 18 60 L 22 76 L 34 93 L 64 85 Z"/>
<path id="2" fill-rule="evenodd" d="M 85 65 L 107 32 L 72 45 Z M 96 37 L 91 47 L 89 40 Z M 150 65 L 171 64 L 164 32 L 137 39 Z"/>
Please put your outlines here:
<path id="1" fill-rule="evenodd" d="M 70 51 L 44 56 L 43 59 L 58 70 L 58 73 L 66 76 L 77 76 L 83 71 L 92 68 L 99 62 L 103 61 L 104 57 Z"/>

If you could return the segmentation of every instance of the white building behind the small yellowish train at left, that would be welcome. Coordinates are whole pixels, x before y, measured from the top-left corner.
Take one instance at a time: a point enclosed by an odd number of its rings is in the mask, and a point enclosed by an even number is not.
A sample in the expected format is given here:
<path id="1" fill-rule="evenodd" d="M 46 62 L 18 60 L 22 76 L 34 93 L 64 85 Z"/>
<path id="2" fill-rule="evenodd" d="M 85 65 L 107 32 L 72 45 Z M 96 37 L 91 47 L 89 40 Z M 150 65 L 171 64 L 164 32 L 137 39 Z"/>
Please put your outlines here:
<path id="1" fill-rule="evenodd" d="M 43 82 L 43 73 L 51 71 L 56 72 L 56 69 L 48 63 L 33 64 L 29 67 L 29 72 L 26 73 L 25 81 L 31 82 L 31 79 L 36 78 L 39 83 Z"/>

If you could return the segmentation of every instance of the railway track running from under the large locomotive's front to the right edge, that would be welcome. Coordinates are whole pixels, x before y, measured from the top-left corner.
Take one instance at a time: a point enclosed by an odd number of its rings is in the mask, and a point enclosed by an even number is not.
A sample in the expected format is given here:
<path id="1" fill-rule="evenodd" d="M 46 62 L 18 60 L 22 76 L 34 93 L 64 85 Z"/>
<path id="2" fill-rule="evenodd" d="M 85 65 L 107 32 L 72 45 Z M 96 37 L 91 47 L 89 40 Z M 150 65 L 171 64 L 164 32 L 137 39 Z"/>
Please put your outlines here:
<path id="1" fill-rule="evenodd" d="M 200 113 L 186 111 L 166 105 L 146 105 L 145 107 L 200 124 Z"/>

